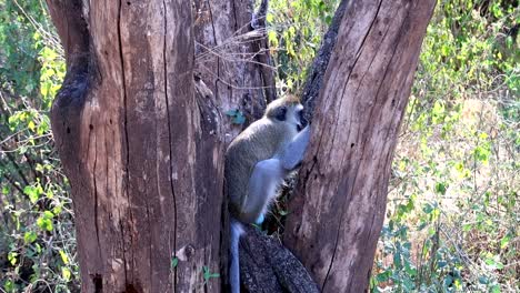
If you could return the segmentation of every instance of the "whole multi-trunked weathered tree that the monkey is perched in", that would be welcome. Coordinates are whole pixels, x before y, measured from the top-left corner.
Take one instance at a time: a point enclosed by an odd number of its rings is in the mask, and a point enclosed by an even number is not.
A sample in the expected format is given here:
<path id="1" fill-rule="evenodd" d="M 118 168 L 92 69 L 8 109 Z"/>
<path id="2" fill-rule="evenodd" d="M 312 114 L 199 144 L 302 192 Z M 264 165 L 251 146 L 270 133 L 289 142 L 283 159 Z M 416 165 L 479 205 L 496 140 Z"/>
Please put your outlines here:
<path id="1" fill-rule="evenodd" d="M 312 124 L 320 135 L 286 243 L 327 292 L 368 284 L 396 134 L 434 3 L 418 2 L 343 1 L 308 82 L 306 97 L 320 92 Z M 240 129 L 220 111 L 239 109 L 248 123 L 276 93 L 258 64 L 268 55 L 259 54 L 264 31 L 249 23 L 252 1 L 196 0 L 194 11 L 180 0 L 48 4 L 67 54 L 51 120 L 72 189 L 82 292 L 219 292 L 223 151 Z M 316 291 L 272 240 L 248 232 L 241 251 L 249 289 Z M 269 265 L 262 277 L 258 269 Z"/>

